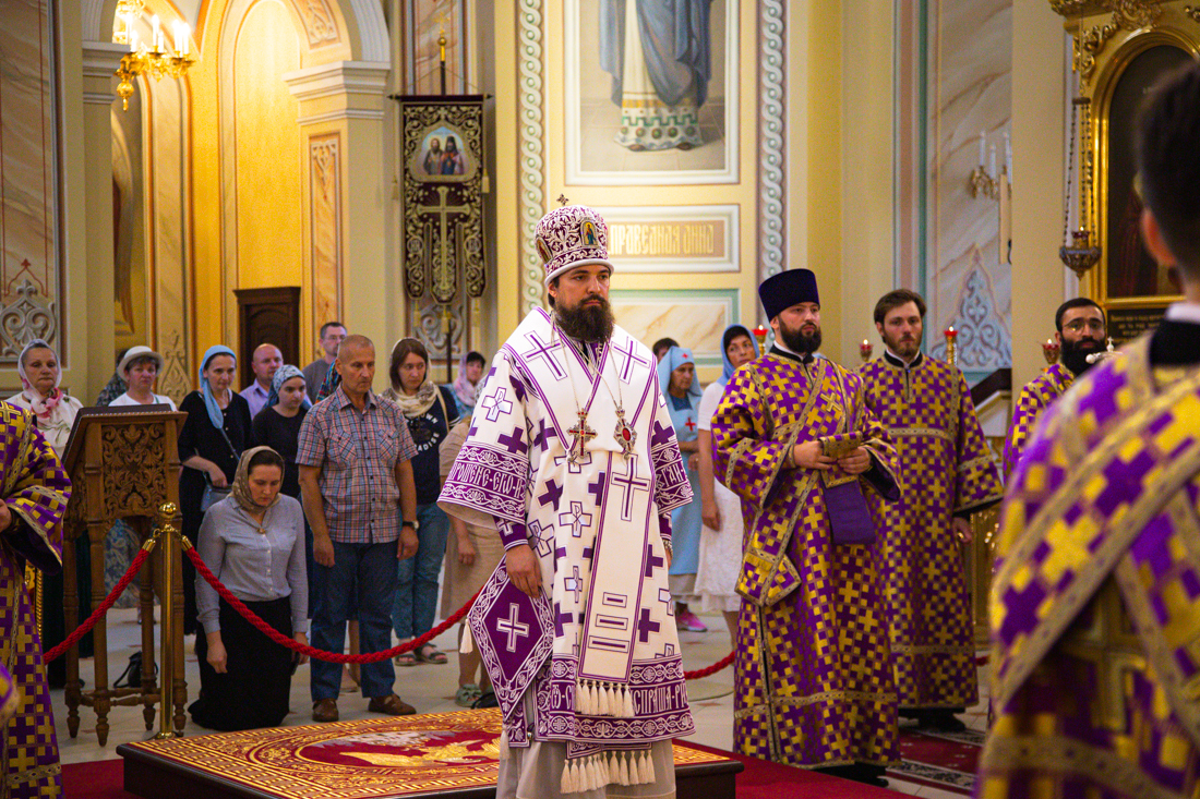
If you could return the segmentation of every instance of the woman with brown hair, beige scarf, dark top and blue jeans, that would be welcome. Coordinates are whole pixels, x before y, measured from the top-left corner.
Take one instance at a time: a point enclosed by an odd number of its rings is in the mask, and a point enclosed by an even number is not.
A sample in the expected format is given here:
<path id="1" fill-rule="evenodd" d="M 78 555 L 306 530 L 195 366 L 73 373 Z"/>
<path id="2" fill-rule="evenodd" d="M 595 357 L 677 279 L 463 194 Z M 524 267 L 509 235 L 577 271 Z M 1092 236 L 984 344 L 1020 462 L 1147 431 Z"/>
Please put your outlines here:
<path id="1" fill-rule="evenodd" d="M 425 344 L 415 338 L 401 338 L 392 347 L 388 376 L 391 388 L 383 396 L 400 405 L 416 445 L 412 463 L 420 546 L 416 557 L 400 561 L 391 609 L 392 629 L 396 637 L 404 642 L 433 629 L 437 614 L 438 573 L 450 534 L 450 519 L 438 507 L 438 494 L 442 493 L 438 447 L 450 434 L 450 428 L 458 423 L 458 413 L 450 390 L 439 388 L 430 379 L 430 355 Z M 418 660 L 444 663 L 446 656 L 431 642 L 416 651 L 397 655 L 396 665 L 414 666 Z"/>

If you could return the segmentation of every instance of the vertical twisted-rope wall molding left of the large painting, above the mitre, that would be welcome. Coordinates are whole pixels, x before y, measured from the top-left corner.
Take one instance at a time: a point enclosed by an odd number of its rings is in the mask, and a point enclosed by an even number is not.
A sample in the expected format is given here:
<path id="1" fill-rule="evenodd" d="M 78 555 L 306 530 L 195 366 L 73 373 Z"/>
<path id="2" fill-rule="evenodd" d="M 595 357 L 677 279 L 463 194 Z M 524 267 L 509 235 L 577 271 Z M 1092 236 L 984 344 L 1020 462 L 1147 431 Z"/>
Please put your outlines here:
<path id="1" fill-rule="evenodd" d="M 518 71 L 521 142 L 521 314 L 542 305 L 544 286 L 541 258 L 534 248 L 534 232 L 545 212 L 545 162 L 542 161 L 542 46 L 541 0 L 517 2 L 517 49 L 521 52 Z"/>

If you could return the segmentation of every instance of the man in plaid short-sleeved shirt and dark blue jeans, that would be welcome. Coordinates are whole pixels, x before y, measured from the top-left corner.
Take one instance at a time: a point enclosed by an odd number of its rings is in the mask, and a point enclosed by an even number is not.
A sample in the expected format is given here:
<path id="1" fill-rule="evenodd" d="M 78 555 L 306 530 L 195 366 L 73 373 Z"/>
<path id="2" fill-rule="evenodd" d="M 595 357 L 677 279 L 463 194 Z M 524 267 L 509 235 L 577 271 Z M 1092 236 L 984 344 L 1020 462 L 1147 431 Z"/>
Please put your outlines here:
<path id="1" fill-rule="evenodd" d="M 317 603 L 312 645 L 342 651 L 350 591 L 356 590 L 364 653 L 391 645 L 396 563 L 416 554 L 416 488 L 409 463 L 416 447 L 395 403 L 371 391 L 374 344 L 347 336 L 334 368 L 341 385 L 308 411 L 296 464 L 305 516 L 313 534 Z M 392 692 L 391 660 L 362 666 L 367 709 L 394 716 L 416 710 Z M 312 720 L 337 721 L 342 667 L 313 659 Z"/>

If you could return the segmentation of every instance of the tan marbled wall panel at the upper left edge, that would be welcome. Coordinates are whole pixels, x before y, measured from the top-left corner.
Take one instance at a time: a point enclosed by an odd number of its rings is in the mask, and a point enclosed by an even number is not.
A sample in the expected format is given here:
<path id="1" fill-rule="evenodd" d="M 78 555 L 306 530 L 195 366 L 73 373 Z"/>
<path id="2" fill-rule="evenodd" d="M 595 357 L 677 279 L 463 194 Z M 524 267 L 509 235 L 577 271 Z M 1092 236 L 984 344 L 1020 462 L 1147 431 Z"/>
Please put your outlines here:
<path id="1" fill-rule="evenodd" d="M 49 0 L 0 0 L 0 362 L 62 328 Z M 66 354 L 64 354 L 66 355 Z"/>

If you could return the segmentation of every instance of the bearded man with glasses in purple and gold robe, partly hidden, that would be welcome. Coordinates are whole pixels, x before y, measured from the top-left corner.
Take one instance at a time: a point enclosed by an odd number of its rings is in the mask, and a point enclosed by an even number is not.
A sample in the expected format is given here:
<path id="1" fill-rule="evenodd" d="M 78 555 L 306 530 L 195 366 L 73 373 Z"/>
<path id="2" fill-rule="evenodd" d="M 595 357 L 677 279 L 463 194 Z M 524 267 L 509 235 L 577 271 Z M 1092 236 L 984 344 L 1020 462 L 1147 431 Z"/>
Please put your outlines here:
<path id="1" fill-rule="evenodd" d="M 1104 311 L 1096 300 L 1076 296 L 1058 306 L 1054 314 L 1055 341 L 1058 344 L 1058 361 L 1021 389 L 1013 408 L 1013 423 L 1004 441 L 1004 476 L 1013 474 L 1021 450 L 1038 426 L 1042 411 L 1049 408 L 1075 382 L 1091 368 L 1087 356 L 1104 349 Z"/>

